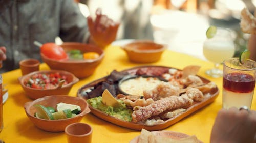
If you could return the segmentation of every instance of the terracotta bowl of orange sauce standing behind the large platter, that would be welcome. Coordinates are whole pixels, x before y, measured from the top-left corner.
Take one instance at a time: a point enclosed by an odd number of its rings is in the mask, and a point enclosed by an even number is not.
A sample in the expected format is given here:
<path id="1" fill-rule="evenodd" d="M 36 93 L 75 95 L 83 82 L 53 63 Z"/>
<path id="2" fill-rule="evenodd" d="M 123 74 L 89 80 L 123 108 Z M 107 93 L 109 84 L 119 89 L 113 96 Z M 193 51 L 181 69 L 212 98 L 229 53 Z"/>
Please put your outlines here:
<path id="1" fill-rule="evenodd" d="M 126 52 L 128 58 L 136 63 L 152 63 L 161 58 L 166 45 L 157 44 L 153 41 L 136 40 L 121 48 Z"/>

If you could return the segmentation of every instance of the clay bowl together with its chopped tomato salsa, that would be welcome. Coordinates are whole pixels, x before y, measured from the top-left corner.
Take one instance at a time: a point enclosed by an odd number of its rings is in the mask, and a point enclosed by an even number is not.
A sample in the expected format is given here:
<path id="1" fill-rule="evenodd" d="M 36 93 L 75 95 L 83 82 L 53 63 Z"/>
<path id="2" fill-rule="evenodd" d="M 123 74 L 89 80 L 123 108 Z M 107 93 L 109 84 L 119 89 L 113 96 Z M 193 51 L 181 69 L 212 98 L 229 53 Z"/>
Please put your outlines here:
<path id="1" fill-rule="evenodd" d="M 18 78 L 25 94 L 31 99 L 48 95 L 68 95 L 79 81 L 72 73 L 61 70 L 35 71 Z"/>

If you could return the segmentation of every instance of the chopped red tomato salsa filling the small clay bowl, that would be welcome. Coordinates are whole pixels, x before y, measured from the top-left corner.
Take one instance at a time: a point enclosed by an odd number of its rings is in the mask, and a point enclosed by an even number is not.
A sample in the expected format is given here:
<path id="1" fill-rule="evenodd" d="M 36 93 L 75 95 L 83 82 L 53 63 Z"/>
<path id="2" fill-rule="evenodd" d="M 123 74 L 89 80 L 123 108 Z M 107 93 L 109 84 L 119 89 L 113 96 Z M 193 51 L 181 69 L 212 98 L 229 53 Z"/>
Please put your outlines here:
<path id="1" fill-rule="evenodd" d="M 59 73 L 34 74 L 24 84 L 35 89 L 54 89 L 61 80 L 65 80 L 63 85 L 68 84 L 67 77 Z"/>

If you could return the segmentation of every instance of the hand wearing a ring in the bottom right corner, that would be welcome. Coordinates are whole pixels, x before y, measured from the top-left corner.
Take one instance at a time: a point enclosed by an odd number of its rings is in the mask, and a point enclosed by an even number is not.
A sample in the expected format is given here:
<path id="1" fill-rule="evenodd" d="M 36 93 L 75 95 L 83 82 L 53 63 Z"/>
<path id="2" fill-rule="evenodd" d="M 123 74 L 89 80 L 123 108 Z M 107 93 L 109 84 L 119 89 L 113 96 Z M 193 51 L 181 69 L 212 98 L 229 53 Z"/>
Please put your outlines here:
<path id="1" fill-rule="evenodd" d="M 256 135 L 256 111 L 238 110 L 236 107 L 218 112 L 212 127 L 210 142 L 253 143 Z"/>

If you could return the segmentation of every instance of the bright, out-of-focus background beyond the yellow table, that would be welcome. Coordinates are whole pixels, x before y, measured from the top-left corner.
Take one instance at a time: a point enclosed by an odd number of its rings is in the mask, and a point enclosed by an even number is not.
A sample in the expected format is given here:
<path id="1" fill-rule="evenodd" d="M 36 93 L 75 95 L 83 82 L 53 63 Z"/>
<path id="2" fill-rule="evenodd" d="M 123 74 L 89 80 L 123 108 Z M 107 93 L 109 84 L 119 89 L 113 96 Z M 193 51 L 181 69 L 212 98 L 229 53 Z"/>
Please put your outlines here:
<path id="1" fill-rule="evenodd" d="M 170 50 L 204 59 L 203 41 L 209 25 L 230 28 L 236 53 L 246 48 L 249 38 L 240 30 L 240 12 L 247 7 L 254 12 L 256 0 L 81 0 L 84 14 L 102 13 L 120 22 L 117 41 L 122 45 L 132 39 L 149 39 L 168 45 Z"/>

